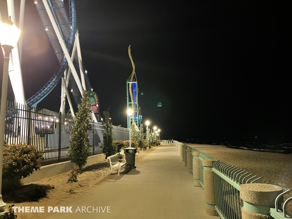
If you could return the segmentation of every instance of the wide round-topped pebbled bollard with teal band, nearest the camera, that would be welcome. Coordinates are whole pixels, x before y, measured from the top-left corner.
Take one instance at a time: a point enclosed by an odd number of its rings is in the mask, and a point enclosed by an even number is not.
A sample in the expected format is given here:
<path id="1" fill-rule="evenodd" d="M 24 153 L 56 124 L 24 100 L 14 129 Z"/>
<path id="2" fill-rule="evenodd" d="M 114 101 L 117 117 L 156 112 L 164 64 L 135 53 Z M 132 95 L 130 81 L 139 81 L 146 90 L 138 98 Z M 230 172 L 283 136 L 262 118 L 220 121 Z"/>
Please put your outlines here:
<path id="1" fill-rule="evenodd" d="M 270 207 L 275 207 L 275 200 L 283 189 L 277 185 L 248 183 L 240 185 L 240 198 L 243 200 L 241 208 L 242 219 L 272 219 Z M 279 207 L 283 202 L 279 200 Z"/>

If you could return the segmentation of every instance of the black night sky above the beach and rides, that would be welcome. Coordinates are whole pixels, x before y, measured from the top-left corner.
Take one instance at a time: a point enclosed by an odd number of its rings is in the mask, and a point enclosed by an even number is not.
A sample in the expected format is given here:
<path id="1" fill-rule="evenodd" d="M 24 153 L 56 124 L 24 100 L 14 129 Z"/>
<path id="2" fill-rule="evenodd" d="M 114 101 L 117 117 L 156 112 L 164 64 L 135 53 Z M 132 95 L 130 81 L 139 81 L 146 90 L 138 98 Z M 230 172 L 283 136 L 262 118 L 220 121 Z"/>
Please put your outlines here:
<path id="1" fill-rule="evenodd" d="M 292 142 L 291 1 L 75 2 L 82 59 L 100 110 L 111 106 L 114 125 L 127 124 L 131 45 L 144 124 L 159 127 L 161 138 Z M 0 0 L 2 16 L 5 4 Z M 33 0 L 25 10 L 29 98 L 59 64 Z M 58 112 L 60 87 L 38 107 Z"/>

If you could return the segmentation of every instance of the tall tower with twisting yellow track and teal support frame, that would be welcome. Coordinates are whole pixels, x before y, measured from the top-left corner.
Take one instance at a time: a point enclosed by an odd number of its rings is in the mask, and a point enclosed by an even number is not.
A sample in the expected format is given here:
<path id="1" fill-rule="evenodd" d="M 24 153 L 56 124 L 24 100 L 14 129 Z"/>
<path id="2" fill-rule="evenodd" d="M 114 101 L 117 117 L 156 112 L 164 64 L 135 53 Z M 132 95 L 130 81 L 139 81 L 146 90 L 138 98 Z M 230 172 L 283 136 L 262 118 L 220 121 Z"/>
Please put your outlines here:
<path id="1" fill-rule="evenodd" d="M 128 48 L 129 52 L 129 57 L 132 62 L 133 66 L 133 71 L 129 79 L 127 80 L 127 109 L 131 108 L 133 110 L 133 114 L 131 115 L 131 121 L 132 123 L 135 123 L 137 127 L 140 127 L 141 121 L 142 121 L 142 116 L 140 112 L 140 107 L 138 105 L 138 82 L 137 82 L 137 77 L 136 77 L 136 72 L 135 72 L 135 64 L 132 59 L 131 55 L 131 45 Z M 130 96 L 129 96 L 130 93 Z M 127 121 L 128 121 L 128 128 L 130 128 L 131 124 L 129 124 L 129 115 L 127 116 Z"/>

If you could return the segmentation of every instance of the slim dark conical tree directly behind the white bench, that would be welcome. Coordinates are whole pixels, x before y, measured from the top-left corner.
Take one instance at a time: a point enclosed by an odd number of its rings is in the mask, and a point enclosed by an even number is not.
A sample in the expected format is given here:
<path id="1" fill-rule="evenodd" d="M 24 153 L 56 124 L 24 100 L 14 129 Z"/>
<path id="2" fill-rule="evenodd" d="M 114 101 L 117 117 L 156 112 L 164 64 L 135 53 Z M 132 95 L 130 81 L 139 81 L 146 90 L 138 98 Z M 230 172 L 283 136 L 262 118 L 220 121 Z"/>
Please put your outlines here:
<path id="1" fill-rule="evenodd" d="M 102 127 L 105 130 L 102 134 L 102 153 L 105 154 L 105 157 L 112 156 L 116 154 L 116 150 L 114 147 L 114 137 L 112 136 L 112 123 L 109 119 L 109 112 L 105 111 L 103 112 L 103 115 L 105 116 Z"/>

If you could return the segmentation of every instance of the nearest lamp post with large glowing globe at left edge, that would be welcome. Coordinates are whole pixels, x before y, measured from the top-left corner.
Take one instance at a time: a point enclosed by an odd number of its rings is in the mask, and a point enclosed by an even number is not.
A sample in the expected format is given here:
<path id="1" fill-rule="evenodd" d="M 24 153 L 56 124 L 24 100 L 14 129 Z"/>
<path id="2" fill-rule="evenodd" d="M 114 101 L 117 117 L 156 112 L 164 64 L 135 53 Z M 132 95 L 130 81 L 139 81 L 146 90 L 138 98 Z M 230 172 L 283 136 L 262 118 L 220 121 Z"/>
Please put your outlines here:
<path id="1" fill-rule="evenodd" d="M 1 114 L 0 114 L 0 136 L 4 136 L 5 132 L 5 117 L 6 117 L 6 100 L 7 100 L 7 85 L 8 85 L 8 65 L 11 50 L 16 45 L 20 35 L 20 30 L 15 27 L 13 22 L 9 19 L 8 23 L 0 22 L 0 43 L 4 49 L 4 65 L 3 65 L 3 81 L 2 81 L 2 95 L 1 95 Z M 0 215 L 7 212 L 4 208 L 5 203 L 2 200 L 2 168 L 3 168 L 3 150 L 4 141 L 0 140 Z"/>

